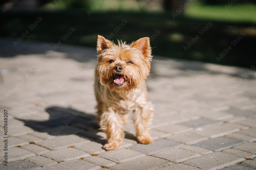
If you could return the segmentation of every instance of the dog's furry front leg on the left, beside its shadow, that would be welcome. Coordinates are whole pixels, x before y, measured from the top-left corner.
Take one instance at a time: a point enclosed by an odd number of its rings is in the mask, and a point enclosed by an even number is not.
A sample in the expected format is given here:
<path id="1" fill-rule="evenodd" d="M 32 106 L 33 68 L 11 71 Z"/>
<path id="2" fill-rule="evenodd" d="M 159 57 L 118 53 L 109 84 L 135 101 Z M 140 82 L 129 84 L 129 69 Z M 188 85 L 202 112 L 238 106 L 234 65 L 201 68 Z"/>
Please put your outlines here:
<path id="1" fill-rule="evenodd" d="M 107 151 L 118 149 L 124 138 L 124 123 L 121 117 L 110 108 L 100 116 L 99 125 L 108 140 L 103 148 Z"/>

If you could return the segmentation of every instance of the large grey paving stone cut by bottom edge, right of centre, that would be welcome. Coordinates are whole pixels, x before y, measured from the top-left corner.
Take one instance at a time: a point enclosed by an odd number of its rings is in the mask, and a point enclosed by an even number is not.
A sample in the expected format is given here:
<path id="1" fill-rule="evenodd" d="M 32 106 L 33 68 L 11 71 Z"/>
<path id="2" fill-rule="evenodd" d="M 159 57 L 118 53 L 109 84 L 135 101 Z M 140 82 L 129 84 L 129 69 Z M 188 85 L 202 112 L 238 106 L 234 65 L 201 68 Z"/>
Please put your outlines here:
<path id="1" fill-rule="evenodd" d="M 235 164 L 237 162 L 244 161 L 244 158 L 231 155 L 225 152 L 213 152 L 206 155 L 202 155 L 196 158 L 192 158 L 182 162 L 183 164 L 198 167 L 201 169 L 220 169 L 226 166 Z"/>

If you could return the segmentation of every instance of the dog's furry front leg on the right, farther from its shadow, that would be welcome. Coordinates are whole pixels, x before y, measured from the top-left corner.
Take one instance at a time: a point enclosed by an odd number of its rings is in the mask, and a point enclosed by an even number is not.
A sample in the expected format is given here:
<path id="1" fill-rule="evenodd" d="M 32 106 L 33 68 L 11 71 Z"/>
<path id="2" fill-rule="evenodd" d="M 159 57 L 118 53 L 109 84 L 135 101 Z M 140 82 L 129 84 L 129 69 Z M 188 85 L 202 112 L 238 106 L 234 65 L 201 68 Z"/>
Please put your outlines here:
<path id="1" fill-rule="evenodd" d="M 151 103 L 139 105 L 133 111 L 133 121 L 136 128 L 136 137 L 140 143 L 148 144 L 153 140 L 150 134 L 150 122 L 152 118 L 153 106 Z"/>

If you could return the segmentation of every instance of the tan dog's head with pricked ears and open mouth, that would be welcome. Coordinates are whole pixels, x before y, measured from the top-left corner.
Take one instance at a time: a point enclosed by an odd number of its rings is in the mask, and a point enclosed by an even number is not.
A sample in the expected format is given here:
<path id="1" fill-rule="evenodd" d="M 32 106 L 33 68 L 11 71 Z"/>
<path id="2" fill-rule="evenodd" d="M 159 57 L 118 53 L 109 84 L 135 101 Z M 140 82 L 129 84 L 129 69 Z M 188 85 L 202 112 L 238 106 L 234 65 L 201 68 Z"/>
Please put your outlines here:
<path id="1" fill-rule="evenodd" d="M 150 72 L 152 60 L 149 38 L 118 45 L 98 35 L 98 79 L 111 91 L 127 94 L 141 86 Z"/>

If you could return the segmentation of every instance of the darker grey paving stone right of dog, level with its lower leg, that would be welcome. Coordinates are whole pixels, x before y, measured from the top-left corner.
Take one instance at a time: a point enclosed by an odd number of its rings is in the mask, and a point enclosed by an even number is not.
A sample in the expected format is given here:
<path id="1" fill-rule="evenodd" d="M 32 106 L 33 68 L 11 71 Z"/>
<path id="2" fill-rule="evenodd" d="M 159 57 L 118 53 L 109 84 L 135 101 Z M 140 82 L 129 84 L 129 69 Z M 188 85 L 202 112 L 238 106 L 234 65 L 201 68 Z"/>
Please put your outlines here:
<path id="1" fill-rule="evenodd" d="M 220 122 L 216 121 L 216 120 L 213 120 L 213 119 L 206 118 L 206 119 L 190 120 L 190 121 L 183 122 L 183 123 L 178 123 L 178 124 L 196 129 L 197 127 L 207 126 L 207 125 L 216 124 L 216 123 L 220 123 Z"/>

